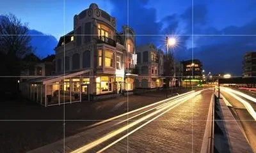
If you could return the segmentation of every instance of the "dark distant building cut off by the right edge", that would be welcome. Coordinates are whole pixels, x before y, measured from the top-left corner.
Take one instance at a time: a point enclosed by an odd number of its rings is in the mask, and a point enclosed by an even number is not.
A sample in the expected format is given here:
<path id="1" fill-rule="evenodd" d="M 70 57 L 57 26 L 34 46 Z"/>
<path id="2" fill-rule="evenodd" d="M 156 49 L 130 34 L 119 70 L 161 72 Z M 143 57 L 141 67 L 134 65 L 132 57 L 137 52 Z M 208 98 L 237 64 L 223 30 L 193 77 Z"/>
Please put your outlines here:
<path id="1" fill-rule="evenodd" d="M 256 52 L 247 52 L 243 59 L 243 77 L 256 76 Z"/>

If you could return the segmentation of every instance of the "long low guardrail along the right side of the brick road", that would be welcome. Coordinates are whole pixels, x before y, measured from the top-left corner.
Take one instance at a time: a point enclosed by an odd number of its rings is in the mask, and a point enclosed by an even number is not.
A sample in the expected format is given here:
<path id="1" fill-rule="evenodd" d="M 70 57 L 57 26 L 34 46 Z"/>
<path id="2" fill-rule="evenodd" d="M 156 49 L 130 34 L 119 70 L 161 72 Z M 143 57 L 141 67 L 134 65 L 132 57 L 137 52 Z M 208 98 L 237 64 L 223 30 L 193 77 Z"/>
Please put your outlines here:
<path id="1" fill-rule="evenodd" d="M 214 105 L 216 101 L 215 94 L 212 94 L 211 103 L 209 106 L 207 122 L 205 126 L 204 139 L 201 147 L 201 153 L 214 152 Z"/>

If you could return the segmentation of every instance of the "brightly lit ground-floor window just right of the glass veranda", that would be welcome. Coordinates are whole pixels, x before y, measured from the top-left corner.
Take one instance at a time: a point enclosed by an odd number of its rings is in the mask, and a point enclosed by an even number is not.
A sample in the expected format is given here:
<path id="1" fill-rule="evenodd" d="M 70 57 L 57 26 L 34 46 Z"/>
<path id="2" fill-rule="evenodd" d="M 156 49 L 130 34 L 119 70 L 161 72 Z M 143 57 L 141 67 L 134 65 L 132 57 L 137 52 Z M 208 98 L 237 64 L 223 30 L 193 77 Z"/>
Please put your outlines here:
<path id="1" fill-rule="evenodd" d="M 97 77 L 96 78 L 97 94 L 113 91 L 113 78 L 111 77 Z"/>

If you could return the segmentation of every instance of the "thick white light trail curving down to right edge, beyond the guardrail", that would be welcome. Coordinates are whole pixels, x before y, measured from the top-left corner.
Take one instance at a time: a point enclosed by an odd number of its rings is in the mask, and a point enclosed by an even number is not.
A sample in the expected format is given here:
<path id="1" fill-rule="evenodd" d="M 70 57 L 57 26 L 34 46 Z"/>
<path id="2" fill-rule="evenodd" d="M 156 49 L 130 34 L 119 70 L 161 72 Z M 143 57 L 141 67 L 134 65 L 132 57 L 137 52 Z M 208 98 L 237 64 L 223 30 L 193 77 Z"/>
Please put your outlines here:
<path id="1" fill-rule="evenodd" d="M 250 105 L 250 103 L 248 103 L 248 101 L 240 98 L 239 96 L 236 96 L 236 94 L 232 93 L 229 89 L 221 87 L 221 90 L 224 92 L 227 92 L 228 94 L 230 94 L 230 96 L 236 98 L 238 101 L 240 101 L 246 108 L 246 110 L 250 113 L 250 115 L 252 115 L 253 119 L 256 120 L 256 112 L 255 110 L 252 108 L 252 105 Z"/>

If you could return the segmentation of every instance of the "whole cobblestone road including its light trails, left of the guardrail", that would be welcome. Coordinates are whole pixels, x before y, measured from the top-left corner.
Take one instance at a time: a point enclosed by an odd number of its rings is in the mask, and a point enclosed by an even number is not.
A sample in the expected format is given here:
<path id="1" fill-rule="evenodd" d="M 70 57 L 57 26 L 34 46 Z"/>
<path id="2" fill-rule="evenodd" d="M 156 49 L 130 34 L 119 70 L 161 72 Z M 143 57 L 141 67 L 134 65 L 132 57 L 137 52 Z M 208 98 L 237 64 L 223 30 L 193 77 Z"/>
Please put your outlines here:
<path id="1" fill-rule="evenodd" d="M 208 89 L 190 99 L 164 101 L 31 152 L 200 152 L 211 96 Z"/>

